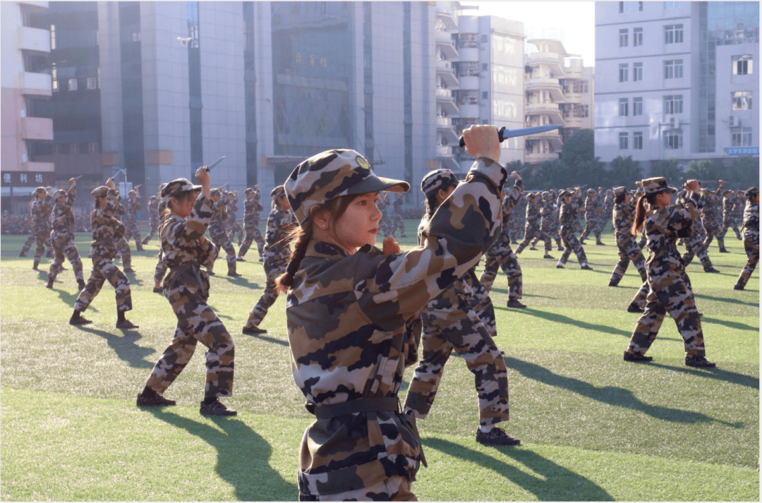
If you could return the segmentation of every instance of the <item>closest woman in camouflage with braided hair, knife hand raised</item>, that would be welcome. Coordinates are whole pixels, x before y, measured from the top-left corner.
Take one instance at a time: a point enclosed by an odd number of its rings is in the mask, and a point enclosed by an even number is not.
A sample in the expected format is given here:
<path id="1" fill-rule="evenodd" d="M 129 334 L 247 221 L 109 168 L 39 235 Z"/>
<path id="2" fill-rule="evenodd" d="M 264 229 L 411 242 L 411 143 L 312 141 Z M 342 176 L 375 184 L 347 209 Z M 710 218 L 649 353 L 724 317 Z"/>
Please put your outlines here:
<path id="1" fill-rule="evenodd" d="M 500 155 L 495 127 L 463 135 L 479 161 L 422 230 L 424 246 L 405 253 L 393 238 L 383 251 L 373 247 L 375 200 L 378 191 L 409 186 L 376 177 L 357 152 L 322 152 L 286 181 L 300 228 L 279 286 L 289 288 L 294 380 L 316 416 L 300 456 L 303 501 L 415 501 L 421 441 L 397 393 L 418 359 L 418 312 L 494 241 L 507 177 L 491 160 Z"/>

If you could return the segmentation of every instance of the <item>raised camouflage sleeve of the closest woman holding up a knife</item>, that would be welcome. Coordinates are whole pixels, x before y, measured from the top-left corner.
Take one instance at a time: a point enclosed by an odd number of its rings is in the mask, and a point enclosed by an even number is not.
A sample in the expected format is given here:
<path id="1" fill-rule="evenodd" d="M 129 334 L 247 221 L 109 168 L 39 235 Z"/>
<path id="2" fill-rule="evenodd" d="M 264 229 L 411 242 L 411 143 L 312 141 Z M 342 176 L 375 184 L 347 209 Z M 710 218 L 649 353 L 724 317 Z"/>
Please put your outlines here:
<path id="1" fill-rule="evenodd" d="M 402 325 L 479 261 L 500 228 L 505 178 L 498 162 L 479 159 L 421 229 L 421 246 L 356 254 L 368 258 L 357 260 L 354 290 L 369 319 L 386 329 Z"/>

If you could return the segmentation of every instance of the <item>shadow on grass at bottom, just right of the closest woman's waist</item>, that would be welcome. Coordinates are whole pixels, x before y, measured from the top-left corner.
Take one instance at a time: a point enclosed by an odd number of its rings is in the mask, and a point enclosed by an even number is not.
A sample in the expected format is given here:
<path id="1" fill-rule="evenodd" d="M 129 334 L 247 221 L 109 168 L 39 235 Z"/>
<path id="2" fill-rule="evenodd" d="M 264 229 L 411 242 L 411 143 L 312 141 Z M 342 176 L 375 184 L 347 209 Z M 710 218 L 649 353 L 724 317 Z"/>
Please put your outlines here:
<path id="1" fill-rule="evenodd" d="M 531 492 L 539 501 L 614 501 L 600 485 L 531 450 L 496 447 L 494 453 L 487 456 L 441 438 L 427 437 L 422 443 L 428 449 L 436 449 L 458 460 L 468 460 L 485 469 L 494 470 L 498 475 Z M 504 458 L 522 463 L 532 473 L 511 466 Z M 501 485 L 500 482 L 496 483 Z"/>

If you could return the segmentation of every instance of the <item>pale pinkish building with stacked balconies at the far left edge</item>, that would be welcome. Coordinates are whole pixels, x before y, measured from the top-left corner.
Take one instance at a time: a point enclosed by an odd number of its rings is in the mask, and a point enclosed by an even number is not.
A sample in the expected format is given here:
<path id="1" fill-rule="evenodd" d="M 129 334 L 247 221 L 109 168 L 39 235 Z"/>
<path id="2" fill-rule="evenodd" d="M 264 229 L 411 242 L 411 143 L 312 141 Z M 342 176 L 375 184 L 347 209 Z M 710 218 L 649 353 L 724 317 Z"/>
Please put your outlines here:
<path id="1" fill-rule="evenodd" d="M 2 18 L 2 210 L 29 211 L 29 194 L 54 184 L 55 166 L 34 152 L 53 139 L 53 120 L 40 114 L 53 95 L 46 75 L 50 29 L 36 23 L 48 2 L 0 2 Z M 18 197 L 21 196 L 21 197 Z"/>

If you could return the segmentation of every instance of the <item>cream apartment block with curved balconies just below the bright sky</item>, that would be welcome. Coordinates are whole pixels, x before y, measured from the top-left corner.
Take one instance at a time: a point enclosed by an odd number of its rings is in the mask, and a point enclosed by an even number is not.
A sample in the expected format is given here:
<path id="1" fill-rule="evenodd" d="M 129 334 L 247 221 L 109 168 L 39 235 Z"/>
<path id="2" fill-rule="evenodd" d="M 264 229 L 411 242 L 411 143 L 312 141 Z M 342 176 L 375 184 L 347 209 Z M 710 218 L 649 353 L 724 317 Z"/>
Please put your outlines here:
<path id="1" fill-rule="evenodd" d="M 531 39 L 526 55 L 527 127 L 562 126 L 524 139 L 524 162 L 559 159 L 563 144 L 576 131 L 593 127 L 593 69 L 566 52 L 554 39 Z"/>

